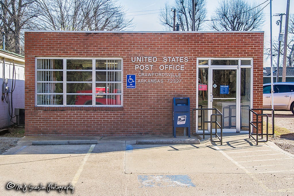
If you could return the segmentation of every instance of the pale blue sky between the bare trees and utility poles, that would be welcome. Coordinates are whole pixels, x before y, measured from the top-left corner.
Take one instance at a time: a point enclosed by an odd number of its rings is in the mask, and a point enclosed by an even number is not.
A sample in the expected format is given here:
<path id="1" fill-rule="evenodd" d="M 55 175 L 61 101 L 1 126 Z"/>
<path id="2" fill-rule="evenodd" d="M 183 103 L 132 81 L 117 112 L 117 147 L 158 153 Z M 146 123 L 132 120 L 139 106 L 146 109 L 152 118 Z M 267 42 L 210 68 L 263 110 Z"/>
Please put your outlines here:
<path id="1" fill-rule="evenodd" d="M 158 14 L 160 9 L 168 1 L 173 4 L 175 0 L 118 0 L 122 6 L 126 9 L 126 16 L 129 19 L 133 19 L 134 29 L 133 31 L 164 31 L 163 26 L 159 23 Z M 192 2 L 192 0 L 190 0 Z M 196 1 L 196 0 L 195 0 Z M 257 5 L 264 3 L 267 0 L 247 0 L 249 2 L 255 2 Z M 207 0 L 207 18 L 210 19 L 211 14 L 214 13 L 219 0 Z M 264 7 L 270 1 L 268 0 Z M 286 13 L 287 0 L 272 0 L 272 34 L 273 40 L 279 35 L 280 27 L 276 25 L 276 21 L 280 19 L 280 16 L 274 16 L 280 13 Z M 270 4 L 264 9 L 265 23 L 259 31 L 265 32 L 265 47 L 270 47 Z M 294 2 L 290 1 L 290 14 L 294 14 Z M 285 16 L 283 16 L 282 31 L 285 30 Z M 205 31 L 212 31 L 206 28 Z M 257 30 L 258 31 L 258 30 Z M 265 61 L 264 66 L 270 66 L 269 61 Z"/>

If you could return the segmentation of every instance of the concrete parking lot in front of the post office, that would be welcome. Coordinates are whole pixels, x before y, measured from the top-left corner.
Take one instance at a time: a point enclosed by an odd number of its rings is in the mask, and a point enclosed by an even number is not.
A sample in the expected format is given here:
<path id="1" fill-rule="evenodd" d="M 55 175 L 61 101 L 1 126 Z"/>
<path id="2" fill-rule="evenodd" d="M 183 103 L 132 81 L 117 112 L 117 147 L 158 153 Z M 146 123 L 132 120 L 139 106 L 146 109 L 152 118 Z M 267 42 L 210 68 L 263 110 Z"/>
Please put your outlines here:
<path id="1" fill-rule="evenodd" d="M 135 145 L 144 138 L 105 137 L 96 138 L 96 145 L 50 146 L 32 146 L 35 138 L 23 139 L 0 156 L 0 192 L 294 195 L 294 155 L 272 142 L 256 146 L 238 133 L 226 135 L 222 146 L 209 140 L 198 145 Z"/>

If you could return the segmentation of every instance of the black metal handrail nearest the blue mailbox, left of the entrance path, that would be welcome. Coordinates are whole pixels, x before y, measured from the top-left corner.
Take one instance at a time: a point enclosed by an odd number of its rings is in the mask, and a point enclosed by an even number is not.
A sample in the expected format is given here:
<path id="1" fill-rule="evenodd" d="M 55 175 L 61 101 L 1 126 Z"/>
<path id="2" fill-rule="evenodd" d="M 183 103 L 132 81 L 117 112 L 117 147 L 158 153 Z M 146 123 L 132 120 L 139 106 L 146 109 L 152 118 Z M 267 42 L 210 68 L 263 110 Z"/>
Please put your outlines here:
<path id="1" fill-rule="evenodd" d="M 194 130 L 194 111 L 198 111 L 200 110 L 201 111 L 201 119 L 200 119 L 200 122 L 201 122 L 201 128 L 203 128 L 203 133 L 193 133 L 193 130 Z M 210 115 L 210 121 L 205 121 L 204 120 L 204 115 L 205 115 L 205 111 L 208 111 L 208 110 L 212 110 L 214 111 L 214 114 L 211 114 Z M 216 119 L 215 121 L 213 121 L 213 116 L 216 116 Z M 221 123 L 218 123 L 217 121 L 217 116 L 221 116 Z M 199 118 L 199 112 L 197 113 L 197 117 Z M 203 139 L 205 138 L 205 135 L 210 135 L 210 140 L 211 142 L 220 142 L 220 145 L 223 144 L 223 114 L 216 108 L 195 108 L 195 109 L 192 109 L 192 134 L 193 135 L 203 135 Z M 211 126 L 210 126 L 210 133 L 205 133 L 205 123 L 210 123 Z M 216 123 L 215 124 L 215 133 L 212 133 L 212 123 Z M 220 137 L 218 136 L 217 134 L 217 126 L 220 128 Z M 198 126 L 199 128 L 199 126 Z M 208 131 L 208 129 L 207 129 Z M 212 139 L 212 135 L 215 135 L 216 138 L 218 138 L 220 141 L 217 141 L 217 140 L 213 140 Z"/>

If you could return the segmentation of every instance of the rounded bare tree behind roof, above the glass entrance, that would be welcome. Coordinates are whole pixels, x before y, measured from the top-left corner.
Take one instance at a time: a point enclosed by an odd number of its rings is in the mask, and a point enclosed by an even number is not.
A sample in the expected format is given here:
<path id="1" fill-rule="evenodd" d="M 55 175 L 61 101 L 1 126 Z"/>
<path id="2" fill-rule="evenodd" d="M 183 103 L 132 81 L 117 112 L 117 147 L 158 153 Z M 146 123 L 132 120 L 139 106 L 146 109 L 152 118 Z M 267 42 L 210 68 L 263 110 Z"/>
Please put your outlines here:
<path id="1" fill-rule="evenodd" d="M 211 16 L 210 26 L 216 31 L 252 31 L 264 23 L 262 5 L 245 0 L 222 0 Z"/>

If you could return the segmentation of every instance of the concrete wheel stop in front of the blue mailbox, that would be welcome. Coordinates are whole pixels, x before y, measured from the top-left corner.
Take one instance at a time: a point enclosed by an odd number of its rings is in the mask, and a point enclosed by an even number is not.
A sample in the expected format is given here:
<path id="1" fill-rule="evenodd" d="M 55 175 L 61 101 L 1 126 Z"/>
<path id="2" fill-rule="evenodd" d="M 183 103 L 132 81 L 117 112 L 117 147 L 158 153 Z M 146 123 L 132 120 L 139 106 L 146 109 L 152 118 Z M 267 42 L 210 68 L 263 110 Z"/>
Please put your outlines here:
<path id="1" fill-rule="evenodd" d="M 145 144 L 200 144 L 200 140 L 137 140 L 136 145 Z"/>

